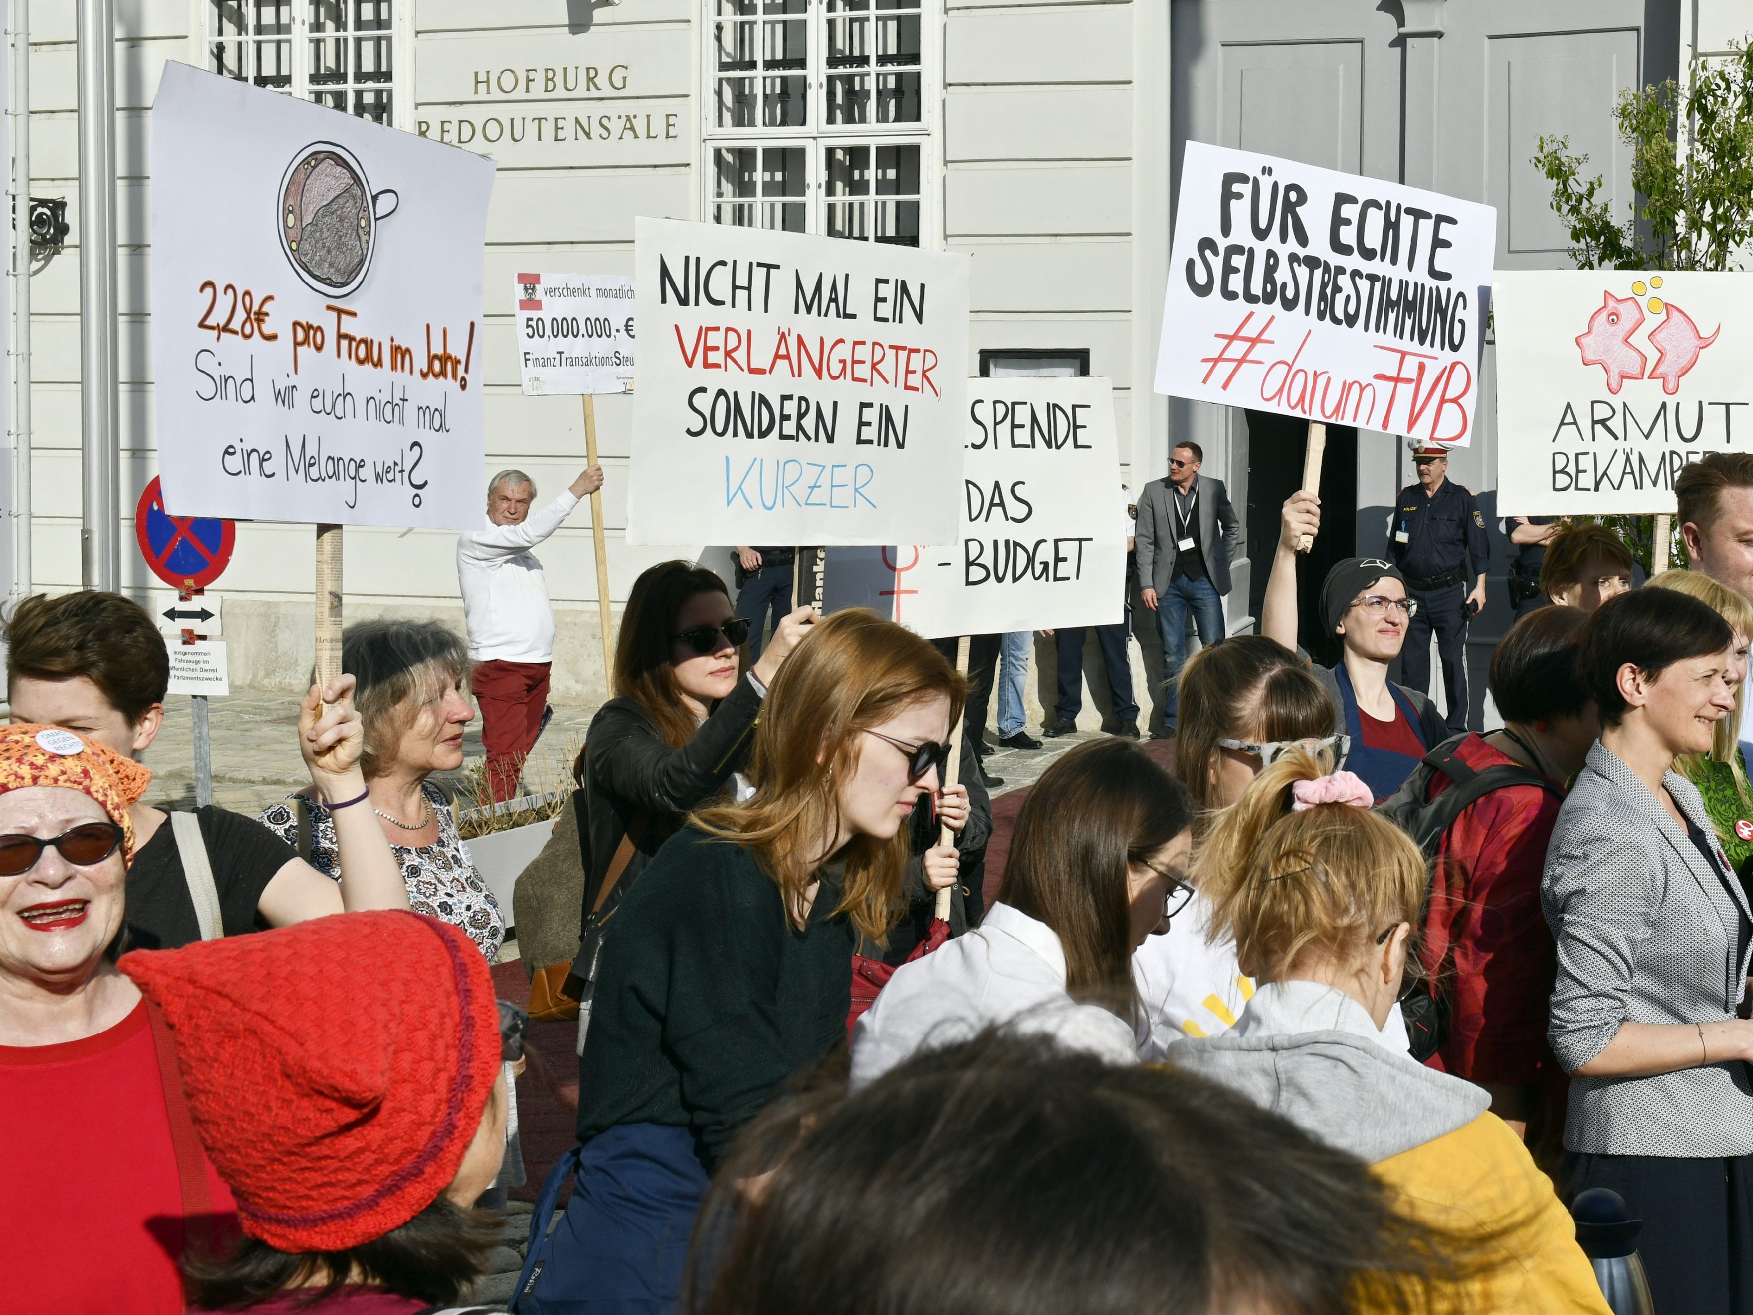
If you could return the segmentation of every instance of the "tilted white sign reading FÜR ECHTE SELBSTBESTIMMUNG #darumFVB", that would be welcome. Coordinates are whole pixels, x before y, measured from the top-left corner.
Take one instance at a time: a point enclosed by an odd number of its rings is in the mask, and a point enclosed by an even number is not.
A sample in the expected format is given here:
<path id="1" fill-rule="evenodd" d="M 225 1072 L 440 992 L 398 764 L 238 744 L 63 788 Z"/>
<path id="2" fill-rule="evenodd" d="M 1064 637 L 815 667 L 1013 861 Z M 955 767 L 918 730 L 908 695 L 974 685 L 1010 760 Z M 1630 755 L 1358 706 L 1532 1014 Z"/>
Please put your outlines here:
<path id="1" fill-rule="evenodd" d="M 1157 391 L 1466 445 L 1497 210 L 1189 142 Z"/>

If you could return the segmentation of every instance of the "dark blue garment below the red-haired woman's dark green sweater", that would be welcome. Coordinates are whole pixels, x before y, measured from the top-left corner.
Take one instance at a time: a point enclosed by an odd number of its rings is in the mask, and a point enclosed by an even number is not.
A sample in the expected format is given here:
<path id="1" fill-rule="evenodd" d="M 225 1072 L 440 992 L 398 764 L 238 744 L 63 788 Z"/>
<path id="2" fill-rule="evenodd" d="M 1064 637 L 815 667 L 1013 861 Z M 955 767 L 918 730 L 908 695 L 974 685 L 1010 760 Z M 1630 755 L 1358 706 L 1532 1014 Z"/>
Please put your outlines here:
<path id="1" fill-rule="evenodd" d="M 568 1176 L 571 1201 L 543 1236 Z M 510 1310 L 671 1315 L 708 1182 L 685 1127 L 621 1124 L 573 1147 L 542 1184 Z"/>

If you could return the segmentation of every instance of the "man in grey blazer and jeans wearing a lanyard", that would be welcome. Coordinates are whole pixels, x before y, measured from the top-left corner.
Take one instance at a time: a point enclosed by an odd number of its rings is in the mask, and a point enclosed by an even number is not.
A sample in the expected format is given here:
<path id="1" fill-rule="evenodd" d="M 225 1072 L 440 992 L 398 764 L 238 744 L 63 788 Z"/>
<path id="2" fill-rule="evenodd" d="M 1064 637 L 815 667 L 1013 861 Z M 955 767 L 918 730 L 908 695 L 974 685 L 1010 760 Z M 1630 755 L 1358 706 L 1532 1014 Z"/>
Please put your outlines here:
<path id="1" fill-rule="evenodd" d="M 1176 444 L 1169 454 L 1169 477 L 1146 484 L 1138 500 L 1141 598 L 1157 614 L 1162 631 L 1162 675 L 1167 682 L 1164 735 L 1175 733 L 1180 703 L 1175 684 L 1187 661 L 1187 614 L 1194 615 L 1201 643 L 1210 647 L 1224 638 L 1229 558 L 1241 535 L 1224 480 L 1201 475 L 1203 461 L 1199 444 Z"/>

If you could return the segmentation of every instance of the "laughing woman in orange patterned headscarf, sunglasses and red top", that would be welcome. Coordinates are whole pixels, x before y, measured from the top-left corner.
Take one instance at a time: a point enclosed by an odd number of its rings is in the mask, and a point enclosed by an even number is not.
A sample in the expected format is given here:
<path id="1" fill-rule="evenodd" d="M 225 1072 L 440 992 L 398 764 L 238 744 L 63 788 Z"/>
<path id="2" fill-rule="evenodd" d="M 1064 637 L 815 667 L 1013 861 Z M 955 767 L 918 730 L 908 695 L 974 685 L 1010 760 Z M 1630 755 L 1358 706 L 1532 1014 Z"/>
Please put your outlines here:
<path id="1" fill-rule="evenodd" d="M 116 971 L 138 763 L 0 726 L 0 1308 L 182 1310 L 177 1257 L 235 1233 L 163 1020 Z"/>

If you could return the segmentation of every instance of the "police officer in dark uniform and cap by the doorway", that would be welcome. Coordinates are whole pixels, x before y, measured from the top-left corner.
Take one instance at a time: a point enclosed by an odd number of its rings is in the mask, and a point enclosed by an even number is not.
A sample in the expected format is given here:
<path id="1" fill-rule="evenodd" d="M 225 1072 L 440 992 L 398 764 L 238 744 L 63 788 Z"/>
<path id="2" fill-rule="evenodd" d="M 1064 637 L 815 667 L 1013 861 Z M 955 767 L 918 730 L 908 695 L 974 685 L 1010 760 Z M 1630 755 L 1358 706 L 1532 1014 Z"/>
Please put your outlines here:
<path id="1" fill-rule="evenodd" d="M 1430 631 L 1443 661 L 1448 729 L 1467 729 L 1467 621 L 1485 607 L 1492 545 L 1473 493 L 1450 484 L 1448 451 L 1413 447 L 1418 482 L 1401 489 L 1388 552 L 1418 603 L 1406 626 L 1401 684 L 1430 693 Z"/>

